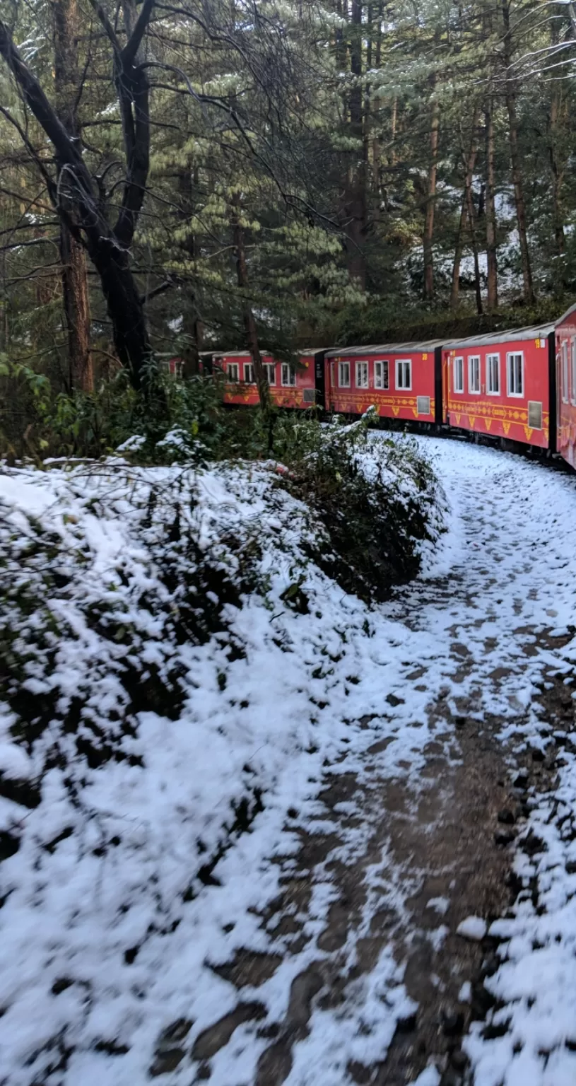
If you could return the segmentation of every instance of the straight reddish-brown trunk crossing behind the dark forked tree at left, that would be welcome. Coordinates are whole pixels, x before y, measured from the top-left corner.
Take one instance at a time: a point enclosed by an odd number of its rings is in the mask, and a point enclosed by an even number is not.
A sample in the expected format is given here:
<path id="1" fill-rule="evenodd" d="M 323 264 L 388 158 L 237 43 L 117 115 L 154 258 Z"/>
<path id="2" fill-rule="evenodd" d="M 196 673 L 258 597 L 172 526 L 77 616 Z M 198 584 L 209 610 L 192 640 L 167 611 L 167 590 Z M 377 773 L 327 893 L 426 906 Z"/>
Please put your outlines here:
<path id="1" fill-rule="evenodd" d="M 54 0 L 53 15 L 56 113 L 66 131 L 78 139 L 76 96 L 80 26 L 77 0 Z M 86 255 L 82 245 L 73 237 L 64 219 L 60 223 L 60 257 L 64 315 L 68 333 L 68 387 L 71 390 L 91 392 L 94 382 L 90 353 L 90 303 Z"/>

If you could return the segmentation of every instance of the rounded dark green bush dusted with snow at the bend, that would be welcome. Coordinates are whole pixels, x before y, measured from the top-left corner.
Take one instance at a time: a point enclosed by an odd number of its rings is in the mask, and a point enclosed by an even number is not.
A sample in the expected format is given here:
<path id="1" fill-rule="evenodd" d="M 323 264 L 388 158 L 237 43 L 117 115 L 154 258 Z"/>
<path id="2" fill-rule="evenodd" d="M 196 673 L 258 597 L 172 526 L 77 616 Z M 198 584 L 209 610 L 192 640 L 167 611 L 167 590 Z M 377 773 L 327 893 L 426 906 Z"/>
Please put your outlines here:
<path id="1" fill-rule="evenodd" d="M 351 426 L 284 418 L 274 449 L 291 467 L 285 484 L 330 538 L 315 560 L 346 591 L 383 599 L 418 573 L 423 544 L 441 531 L 444 496 L 417 443 L 371 433 L 373 419 L 373 408 Z"/>

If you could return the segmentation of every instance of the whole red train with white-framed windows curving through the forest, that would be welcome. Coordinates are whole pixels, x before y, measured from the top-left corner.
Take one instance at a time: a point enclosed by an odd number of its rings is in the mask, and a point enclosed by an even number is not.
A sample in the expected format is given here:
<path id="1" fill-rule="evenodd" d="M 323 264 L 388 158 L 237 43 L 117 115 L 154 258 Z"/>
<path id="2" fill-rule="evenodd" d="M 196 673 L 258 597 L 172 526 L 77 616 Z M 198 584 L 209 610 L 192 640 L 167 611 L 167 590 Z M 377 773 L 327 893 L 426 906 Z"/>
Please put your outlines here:
<path id="1" fill-rule="evenodd" d="M 576 305 L 553 324 L 463 340 L 303 351 L 263 362 L 280 407 L 360 415 L 469 431 L 559 453 L 576 468 Z M 247 352 L 214 354 L 225 402 L 257 404 Z"/>

